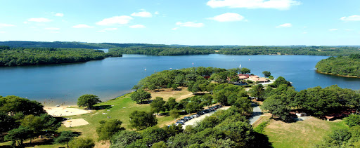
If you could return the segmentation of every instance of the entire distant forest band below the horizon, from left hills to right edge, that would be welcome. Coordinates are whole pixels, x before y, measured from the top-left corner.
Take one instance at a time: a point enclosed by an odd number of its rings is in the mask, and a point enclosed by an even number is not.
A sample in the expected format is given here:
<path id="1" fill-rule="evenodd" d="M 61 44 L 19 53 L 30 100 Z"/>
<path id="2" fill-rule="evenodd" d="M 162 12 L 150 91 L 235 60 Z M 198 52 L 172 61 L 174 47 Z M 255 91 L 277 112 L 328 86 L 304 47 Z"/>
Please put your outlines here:
<path id="1" fill-rule="evenodd" d="M 359 46 L 186 46 L 148 43 L 84 43 L 84 42 L 41 42 L 2 41 L 0 46 L 24 48 L 110 48 L 120 54 L 142 55 L 327 55 L 340 56 L 360 53 Z"/>

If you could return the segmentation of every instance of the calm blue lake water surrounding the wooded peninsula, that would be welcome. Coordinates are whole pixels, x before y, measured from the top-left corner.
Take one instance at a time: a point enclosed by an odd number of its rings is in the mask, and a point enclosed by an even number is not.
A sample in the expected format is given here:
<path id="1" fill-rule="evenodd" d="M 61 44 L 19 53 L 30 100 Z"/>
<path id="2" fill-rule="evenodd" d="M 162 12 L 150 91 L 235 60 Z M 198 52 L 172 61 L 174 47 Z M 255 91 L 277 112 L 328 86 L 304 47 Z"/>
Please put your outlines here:
<path id="1" fill-rule="evenodd" d="M 101 100 L 131 92 L 131 88 L 154 71 L 185 67 L 242 67 L 262 76 L 264 70 L 275 77 L 283 76 L 297 90 L 334 84 L 360 89 L 360 79 L 318 74 L 315 65 L 326 56 L 309 55 L 123 55 L 69 65 L 0 67 L 0 95 L 18 95 L 46 105 L 75 105 L 84 94 L 98 95 Z M 250 59 L 250 60 L 249 60 Z M 194 63 L 194 65 L 192 64 Z M 147 71 L 144 71 L 147 69 Z M 50 101 L 49 101 L 50 100 Z M 53 101 L 53 102 L 52 102 Z"/>

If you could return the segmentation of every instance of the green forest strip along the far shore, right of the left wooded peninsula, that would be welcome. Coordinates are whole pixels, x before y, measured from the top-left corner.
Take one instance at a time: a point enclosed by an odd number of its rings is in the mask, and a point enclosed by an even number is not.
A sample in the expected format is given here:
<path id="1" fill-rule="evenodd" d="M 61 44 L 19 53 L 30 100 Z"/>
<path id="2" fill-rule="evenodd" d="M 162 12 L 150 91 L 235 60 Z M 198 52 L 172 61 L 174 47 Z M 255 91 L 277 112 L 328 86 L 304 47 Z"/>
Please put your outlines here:
<path id="1" fill-rule="evenodd" d="M 224 55 L 350 55 L 360 53 L 355 47 L 328 46 L 184 46 L 184 47 L 127 47 L 110 48 L 121 54 L 142 55 L 203 55 L 218 53 Z"/>

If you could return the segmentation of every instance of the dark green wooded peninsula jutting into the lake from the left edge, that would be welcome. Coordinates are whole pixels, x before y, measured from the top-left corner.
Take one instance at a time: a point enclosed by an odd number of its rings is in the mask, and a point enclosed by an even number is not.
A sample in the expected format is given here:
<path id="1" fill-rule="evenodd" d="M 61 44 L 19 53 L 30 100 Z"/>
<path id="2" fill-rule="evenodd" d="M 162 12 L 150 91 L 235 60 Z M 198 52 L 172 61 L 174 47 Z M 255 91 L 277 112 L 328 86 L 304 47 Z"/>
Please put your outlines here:
<path id="1" fill-rule="evenodd" d="M 0 46 L 0 67 L 50 65 L 121 57 L 116 52 L 81 48 L 10 48 Z"/>

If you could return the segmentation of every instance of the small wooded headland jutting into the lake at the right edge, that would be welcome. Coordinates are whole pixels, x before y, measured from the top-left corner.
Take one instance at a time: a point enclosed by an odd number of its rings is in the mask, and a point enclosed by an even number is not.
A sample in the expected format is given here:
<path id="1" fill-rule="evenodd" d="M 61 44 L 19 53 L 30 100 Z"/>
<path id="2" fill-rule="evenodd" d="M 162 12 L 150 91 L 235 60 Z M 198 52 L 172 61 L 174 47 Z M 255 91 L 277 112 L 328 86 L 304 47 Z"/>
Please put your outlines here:
<path id="1" fill-rule="evenodd" d="M 360 54 L 323 59 L 316 68 L 323 73 L 360 77 Z"/>

